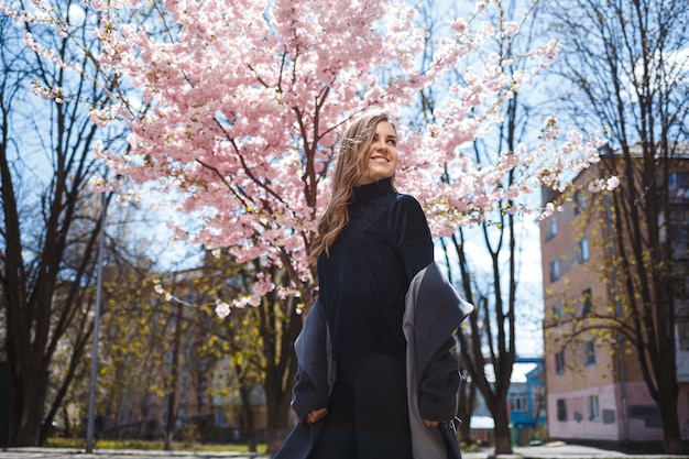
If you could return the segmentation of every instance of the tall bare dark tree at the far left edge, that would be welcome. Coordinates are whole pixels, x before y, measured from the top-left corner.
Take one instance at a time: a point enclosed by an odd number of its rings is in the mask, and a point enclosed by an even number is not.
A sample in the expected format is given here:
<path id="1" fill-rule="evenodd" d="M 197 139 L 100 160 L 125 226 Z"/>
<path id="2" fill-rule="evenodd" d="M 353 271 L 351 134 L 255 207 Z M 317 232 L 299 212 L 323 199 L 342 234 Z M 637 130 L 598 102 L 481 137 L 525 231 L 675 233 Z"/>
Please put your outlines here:
<path id="1" fill-rule="evenodd" d="M 83 212 L 81 198 L 87 181 L 103 173 L 91 149 L 97 140 L 111 139 L 89 119 L 90 109 L 109 103 L 108 88 L 94 77 L 97 42 L 85 25 L 95 18 L 76 18 L 72 3 L 52 10 L 66 24 L 83 21 L 70 24 L 64 37 L 30 23 L 22 30 L 0 17 L 0 283 L 14 446 L 37 442 L 44 382 L 57 343 L 75 320 L 86 320 L 80 288 L 90 282 L 98 222 Z M 31 46 L 23 42 L 26 34 Z M 46 58 L 40 44 L 57 53 Z M 78 62 L 81 72 L 62 61 Z"/>

